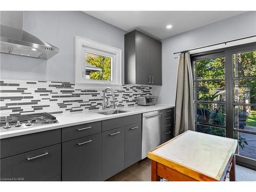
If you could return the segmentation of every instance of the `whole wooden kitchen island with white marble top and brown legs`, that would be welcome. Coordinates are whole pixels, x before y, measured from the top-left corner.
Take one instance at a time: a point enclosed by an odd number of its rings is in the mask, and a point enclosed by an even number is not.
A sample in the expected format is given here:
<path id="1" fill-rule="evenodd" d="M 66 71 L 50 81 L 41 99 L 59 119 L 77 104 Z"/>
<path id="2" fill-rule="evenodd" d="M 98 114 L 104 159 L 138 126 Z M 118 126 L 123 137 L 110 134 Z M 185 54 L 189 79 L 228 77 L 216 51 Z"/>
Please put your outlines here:
<path id="1" fill-rule="evenodd" d="M 235 181 L 237 140 L 194 131 L 163 143 L 148 152 L 151 179 L 160 181 Z"/>

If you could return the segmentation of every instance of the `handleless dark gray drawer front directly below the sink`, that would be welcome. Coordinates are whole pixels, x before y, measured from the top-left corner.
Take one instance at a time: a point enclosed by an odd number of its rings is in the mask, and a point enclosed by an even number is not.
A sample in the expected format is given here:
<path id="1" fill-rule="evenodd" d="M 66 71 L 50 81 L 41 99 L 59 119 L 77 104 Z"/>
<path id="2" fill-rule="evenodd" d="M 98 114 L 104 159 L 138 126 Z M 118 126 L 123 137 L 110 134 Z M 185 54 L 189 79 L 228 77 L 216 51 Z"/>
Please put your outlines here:
<path id="1" fill-rule="evenodd" d="M 141 122 L 141 114 L 119 117 L 102 121 L 102 132 L 115 128 Z"/>

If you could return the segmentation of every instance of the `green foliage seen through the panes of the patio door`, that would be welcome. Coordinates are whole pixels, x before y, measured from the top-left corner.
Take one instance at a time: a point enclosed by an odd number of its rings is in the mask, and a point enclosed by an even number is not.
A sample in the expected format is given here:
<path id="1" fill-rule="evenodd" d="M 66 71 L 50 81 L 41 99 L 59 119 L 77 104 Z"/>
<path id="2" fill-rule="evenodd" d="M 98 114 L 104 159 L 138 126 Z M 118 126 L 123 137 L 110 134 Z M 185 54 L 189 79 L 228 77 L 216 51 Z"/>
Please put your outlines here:
<path id="1" fill-rule="evenodd" d="M 225 78 L 224 57 L 196 61 L 196 67 L 197 79 Z M 256 51 L 233 55 L 233 74 L 234 77 L 256 76 Z M 256 80 L 236 80 L 234 87 L 238 88 L 234 90 L 236 102 L 256 103 Z M 196 91 L 199 101 L 224 101 L 225 81 L 199 81 Z M 197 131 L 225 137 L 225 129 L 210 126 L 210 124 L 225 126 L 225 105 L 198 103 L 196 106 L 197 121 L 209 124 L 209 126 L 198 124 Z M 248 106 L 239 106 L 239 113 L 234 114 L 234 122 L 239 120 L 240 124 L 244 122 L 244 125 L 256 127 L 256 111 L 251 111 L 248 115 L 246 109 Z M 242 126 L 240 124 L 239 126 Z M 246 138 L 239 136 L 238 140 L 243 150 L 248 145 Z"/>

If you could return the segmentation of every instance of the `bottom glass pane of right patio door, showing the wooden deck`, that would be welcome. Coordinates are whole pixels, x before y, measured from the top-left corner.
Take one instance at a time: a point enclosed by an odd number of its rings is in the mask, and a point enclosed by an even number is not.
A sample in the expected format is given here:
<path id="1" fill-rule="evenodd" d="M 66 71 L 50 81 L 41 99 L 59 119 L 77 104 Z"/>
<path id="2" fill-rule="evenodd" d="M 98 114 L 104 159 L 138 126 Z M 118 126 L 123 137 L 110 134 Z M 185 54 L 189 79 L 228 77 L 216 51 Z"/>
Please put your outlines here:
<path id="1" fill-rule="evenodd" d="M 234 139 L 238 139 L 238 155 L 256 160 L 256 135 L 235 132 Z"/>

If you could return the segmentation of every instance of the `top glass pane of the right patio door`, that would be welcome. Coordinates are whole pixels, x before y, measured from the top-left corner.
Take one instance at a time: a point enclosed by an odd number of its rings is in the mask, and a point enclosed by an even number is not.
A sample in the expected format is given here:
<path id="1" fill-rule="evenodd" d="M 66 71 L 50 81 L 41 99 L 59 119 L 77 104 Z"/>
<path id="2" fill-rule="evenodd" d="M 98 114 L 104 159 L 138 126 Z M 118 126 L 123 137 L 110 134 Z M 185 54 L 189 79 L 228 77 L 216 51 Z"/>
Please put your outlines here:
<path id="1" fill-rule="evenodd" d="M 234 77 L 256 76 L 256 51 L 233 54 Z"/>

